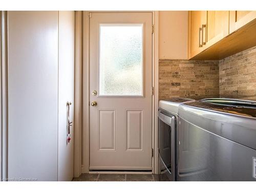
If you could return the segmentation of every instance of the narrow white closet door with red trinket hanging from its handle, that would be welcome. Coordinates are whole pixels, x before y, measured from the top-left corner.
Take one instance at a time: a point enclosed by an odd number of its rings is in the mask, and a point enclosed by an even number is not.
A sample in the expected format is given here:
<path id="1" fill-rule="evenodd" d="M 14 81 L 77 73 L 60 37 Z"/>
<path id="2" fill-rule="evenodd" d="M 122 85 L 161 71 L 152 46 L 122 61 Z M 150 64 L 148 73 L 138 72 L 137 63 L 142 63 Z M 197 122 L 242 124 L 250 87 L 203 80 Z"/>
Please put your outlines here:
<path id="1" fill-rule="evenodd" d="M 74 126 L 67 142 L 67 101 L 70 121 L 74 122 L 74 39 L 75 12 L 59 11 L 59 112 L 58 112 L 58 181 L 71 181 L 74 169 Z M 74 123 L 72 123 L 74 125 Z"/>

